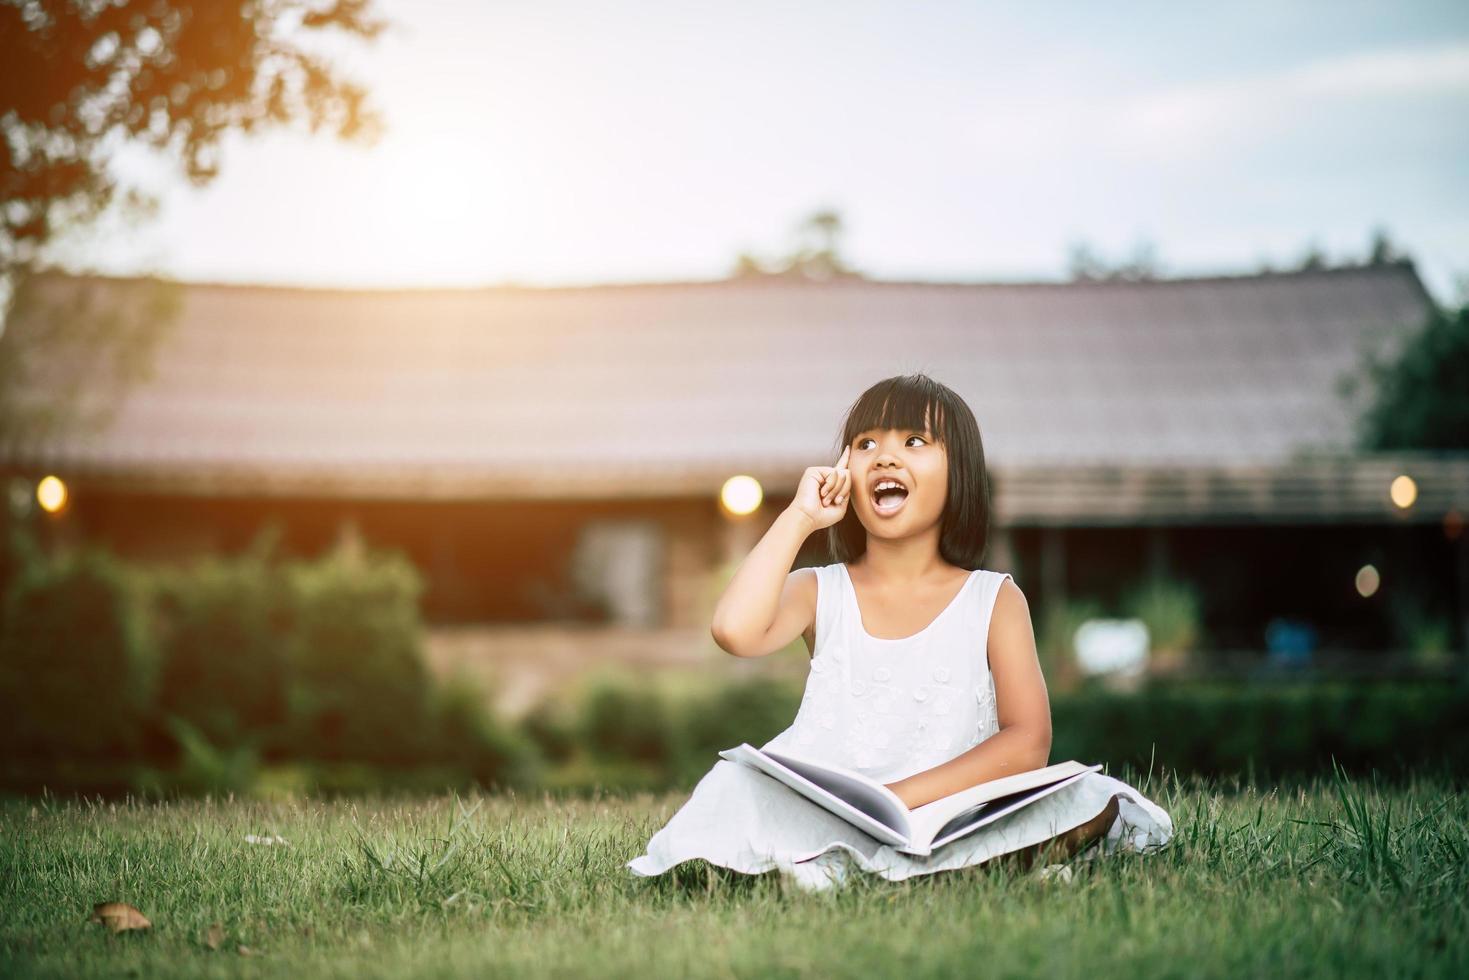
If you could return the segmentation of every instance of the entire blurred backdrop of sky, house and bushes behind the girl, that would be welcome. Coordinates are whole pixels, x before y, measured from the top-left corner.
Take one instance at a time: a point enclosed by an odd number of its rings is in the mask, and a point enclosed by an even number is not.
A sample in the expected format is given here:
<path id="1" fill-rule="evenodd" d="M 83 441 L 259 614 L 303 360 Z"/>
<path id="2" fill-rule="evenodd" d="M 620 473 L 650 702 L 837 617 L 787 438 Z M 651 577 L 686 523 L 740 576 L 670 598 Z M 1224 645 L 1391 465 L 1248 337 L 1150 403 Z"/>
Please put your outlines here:
<path id="1" fill-rule="evenodd" d="M 687 788 L 925 372 L 1053 760 L 1469 771 L 1460 3 L 0 3 L 10 792 Z M 798 564 L 826 564 L 824 538 Z"/>

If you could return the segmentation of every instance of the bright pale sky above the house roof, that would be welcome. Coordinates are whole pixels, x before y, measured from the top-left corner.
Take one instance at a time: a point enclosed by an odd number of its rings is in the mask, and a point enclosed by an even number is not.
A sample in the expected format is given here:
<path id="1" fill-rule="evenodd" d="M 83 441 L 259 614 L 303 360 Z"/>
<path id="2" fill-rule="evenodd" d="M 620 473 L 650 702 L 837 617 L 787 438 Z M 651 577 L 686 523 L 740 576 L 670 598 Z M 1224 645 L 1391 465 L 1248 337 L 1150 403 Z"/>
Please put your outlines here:
<path id="1" fill-rule="evenodd" d="M 72 267 L 317 287 L 712 279 L 811 212 L 881 279 L 1365 256 L 1469 298 L 1469 3 L 391 0 L 332 46 L 386 131 L 225 143 Z"/>

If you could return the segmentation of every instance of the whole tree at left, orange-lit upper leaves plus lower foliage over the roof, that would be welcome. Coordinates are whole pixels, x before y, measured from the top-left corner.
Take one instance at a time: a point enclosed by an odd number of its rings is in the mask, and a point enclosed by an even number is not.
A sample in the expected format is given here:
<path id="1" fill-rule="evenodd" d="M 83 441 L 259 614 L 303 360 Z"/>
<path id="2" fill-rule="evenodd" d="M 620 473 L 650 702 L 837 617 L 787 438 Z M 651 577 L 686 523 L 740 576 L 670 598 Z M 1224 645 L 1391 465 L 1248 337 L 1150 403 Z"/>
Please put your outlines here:
<path id="1" fill-rule="evenodd" d="M 372 143 L 366 91 L 308 50 L 311 35 L 372 40 L 373 0 L 0 0 L 0 460 L 104 425 L 145 378 L 179 309 L 160 281 L 38 275 L 63 231 L 120 198 L 119 145 L 175 159 L 195 187 L 229 132 L 304 122 Z"/>

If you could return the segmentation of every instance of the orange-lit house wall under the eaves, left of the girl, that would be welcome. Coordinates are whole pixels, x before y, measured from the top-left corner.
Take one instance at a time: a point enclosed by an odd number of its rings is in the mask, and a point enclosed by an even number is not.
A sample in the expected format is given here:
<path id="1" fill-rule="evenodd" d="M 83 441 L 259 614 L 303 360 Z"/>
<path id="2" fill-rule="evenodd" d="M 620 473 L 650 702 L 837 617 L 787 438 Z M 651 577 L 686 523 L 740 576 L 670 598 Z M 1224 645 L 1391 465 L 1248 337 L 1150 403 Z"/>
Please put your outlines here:
<path id="1" fill-rule="evenodd" d="M 707 616 L 724 519 L 714 501 L 335 501 L 119 494 L 75 485 L 56 538 L 138 560 L 244 550 L 275 526 L 286 555 L 353 527 L 425 574 L 430 623 L 693 626 Z M 707 621 L 707 620 L 705 620 Z"/>

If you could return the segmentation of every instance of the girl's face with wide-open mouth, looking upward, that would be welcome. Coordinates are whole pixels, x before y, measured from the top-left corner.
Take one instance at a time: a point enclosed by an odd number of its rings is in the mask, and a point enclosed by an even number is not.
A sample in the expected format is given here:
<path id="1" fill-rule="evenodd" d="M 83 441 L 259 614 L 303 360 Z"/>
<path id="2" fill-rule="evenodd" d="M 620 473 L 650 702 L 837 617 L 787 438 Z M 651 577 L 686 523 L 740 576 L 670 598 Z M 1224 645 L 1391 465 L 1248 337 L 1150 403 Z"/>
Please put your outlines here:
<path id="1" fill-rule="evenodd" d="M 939 522 L 949 497 L 949 457 L 933 432 L 868 429 L 851 448 L 852 504 L 870 535 L 902 538 Z M 908 494 L 874 494 L 884 479 Z"/>

